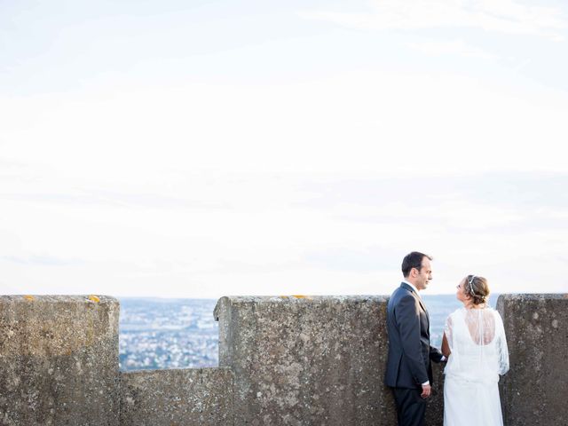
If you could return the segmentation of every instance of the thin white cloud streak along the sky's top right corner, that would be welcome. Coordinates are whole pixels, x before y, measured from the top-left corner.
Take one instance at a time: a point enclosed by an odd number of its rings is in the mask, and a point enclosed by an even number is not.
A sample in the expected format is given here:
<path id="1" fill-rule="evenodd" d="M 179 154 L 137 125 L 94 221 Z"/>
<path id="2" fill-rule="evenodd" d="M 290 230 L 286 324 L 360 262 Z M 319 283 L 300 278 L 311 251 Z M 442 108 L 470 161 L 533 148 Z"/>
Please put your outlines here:
<path id="1" fill-rule="evenodd" d="M 476 28 L 504 34 L 543 36 L 553 41 L 564 40 L 561 30 L 566 28 L 566 20 L 558 8 L 525 5 L 515 0 L 375 0 L 371 5 L 371 12 L 312 11 L 299 15 L 348 28 Z"/>

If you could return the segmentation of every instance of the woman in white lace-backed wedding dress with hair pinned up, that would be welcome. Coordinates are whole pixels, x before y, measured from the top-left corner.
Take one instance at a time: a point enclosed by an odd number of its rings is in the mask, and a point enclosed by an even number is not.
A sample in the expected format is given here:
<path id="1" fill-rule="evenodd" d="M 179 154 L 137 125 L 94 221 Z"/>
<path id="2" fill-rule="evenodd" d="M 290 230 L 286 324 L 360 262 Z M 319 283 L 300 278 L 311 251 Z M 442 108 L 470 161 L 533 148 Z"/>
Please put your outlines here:
<path id="1" fill-rule="evenodd" d="M 468 275 L 456 296 L 463 303 L 446 319 L 442 353 L 444 426 L 501 426 L 499 376 L 509 370 L 509 351 L 499 312 L 487 304 L 483 277 Z"/>

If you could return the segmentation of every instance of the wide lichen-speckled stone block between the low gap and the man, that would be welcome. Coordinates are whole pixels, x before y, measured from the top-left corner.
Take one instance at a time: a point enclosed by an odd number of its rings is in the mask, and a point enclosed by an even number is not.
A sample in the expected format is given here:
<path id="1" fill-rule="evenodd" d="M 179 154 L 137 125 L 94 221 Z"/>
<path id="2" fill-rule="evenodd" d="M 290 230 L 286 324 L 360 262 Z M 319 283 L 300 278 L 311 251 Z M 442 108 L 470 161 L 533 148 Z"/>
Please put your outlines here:
<path id="1" fill-rule="evenodd" d="M 384 296 L 223 297 L 219 365 L 233 368 L 234 424 L 393 425 L 383 385 Z"/>

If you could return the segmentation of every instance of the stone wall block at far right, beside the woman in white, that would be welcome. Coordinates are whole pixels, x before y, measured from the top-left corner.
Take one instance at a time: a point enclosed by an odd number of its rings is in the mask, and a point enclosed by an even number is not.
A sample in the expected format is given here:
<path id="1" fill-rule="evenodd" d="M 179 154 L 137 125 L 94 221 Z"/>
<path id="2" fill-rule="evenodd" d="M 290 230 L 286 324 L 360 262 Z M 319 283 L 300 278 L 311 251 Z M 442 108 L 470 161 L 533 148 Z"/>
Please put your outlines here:
<path id="1" fill-rule="evenodd" d="M 568 295 L 504 295 L 510 371 L 501 379 L 505 424 L 568 424 Z"/>

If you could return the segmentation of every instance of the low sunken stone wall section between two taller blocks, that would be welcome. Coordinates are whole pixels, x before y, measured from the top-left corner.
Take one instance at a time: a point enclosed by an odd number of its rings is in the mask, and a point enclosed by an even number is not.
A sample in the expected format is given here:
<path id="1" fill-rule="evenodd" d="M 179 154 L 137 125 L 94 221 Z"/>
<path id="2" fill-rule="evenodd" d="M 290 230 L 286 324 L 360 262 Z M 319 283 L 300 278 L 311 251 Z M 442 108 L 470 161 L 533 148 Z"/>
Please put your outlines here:
<path id="1" fill-rule="evenodd" d="M 121 374 L 121 426 L 229 426 L 233 374 L 229 368 Z"/>

